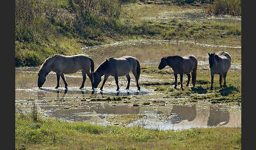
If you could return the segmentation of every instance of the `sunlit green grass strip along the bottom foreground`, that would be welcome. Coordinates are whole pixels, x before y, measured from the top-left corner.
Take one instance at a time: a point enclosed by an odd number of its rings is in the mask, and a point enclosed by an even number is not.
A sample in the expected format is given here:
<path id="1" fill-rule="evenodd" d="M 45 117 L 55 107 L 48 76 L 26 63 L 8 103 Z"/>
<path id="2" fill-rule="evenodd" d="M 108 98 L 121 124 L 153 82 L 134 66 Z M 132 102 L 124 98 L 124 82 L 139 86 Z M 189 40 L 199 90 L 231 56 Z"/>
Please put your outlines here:
<path id="1" fill-rule="evenodd" d="M 17 149 L 241 149 L 241 127 L 157 131 L 15 116 Z"/>

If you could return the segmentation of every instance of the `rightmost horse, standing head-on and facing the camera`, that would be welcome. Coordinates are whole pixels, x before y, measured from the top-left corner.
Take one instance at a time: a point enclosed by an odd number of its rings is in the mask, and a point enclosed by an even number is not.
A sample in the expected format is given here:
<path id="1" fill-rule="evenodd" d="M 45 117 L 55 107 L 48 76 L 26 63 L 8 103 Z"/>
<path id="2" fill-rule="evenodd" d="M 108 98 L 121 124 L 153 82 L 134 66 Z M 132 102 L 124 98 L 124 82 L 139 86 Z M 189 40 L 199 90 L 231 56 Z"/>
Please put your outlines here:
<path id="1" fill-rule="evenodd" d="M 220 75 L 220 88 L 222 88 L 222 78 L 224 78 L 224 86 L 226 86 L 226 77 L 231 65 L 231 56 L 228 52 L 219 51 L 217 53 L 209 53 L 209 65 L 211 70 L 211 90 L 213 88 L 214 74 Z"/>

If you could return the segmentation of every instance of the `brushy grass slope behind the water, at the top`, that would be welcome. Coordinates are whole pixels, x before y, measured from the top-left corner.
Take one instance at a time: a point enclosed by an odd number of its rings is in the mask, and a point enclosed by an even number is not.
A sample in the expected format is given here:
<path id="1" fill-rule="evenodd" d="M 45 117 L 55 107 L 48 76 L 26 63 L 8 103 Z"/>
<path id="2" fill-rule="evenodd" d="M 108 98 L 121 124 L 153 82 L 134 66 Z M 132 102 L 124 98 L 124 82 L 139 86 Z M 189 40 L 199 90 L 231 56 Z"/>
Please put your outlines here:
<path id="1" fill-rule="evenodd" d="M 15 2 L 16 67 L 38 66 L 56 53 L 75 55 L 85 46 L 127 39 L 185 39 L 216 45 L 241 45 L 241 24 L 191 22 L 176 19 L 179 16 L 168 21 L 144 19 L 158 17 L 164 10 L 174 10 L 176 14 L 180 14 L 180 10 L 201 11 L 204 6 L 194 4 L 213 5 L 210 1 L 161 1 L 161 5 L 155 1 L 107 0 Z M 87 7 L 89 5 L 91 7 Z M 188 13 L 194 19 L 194 13 Z"/>

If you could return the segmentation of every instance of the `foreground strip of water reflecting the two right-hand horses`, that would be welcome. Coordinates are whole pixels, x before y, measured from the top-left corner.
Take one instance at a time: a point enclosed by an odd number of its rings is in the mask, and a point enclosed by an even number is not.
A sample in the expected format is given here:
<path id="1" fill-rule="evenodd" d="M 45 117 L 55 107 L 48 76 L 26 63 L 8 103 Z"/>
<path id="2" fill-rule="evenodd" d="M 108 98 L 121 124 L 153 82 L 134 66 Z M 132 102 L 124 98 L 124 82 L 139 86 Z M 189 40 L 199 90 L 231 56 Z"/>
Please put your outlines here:
<path id="1" fill-rule="evenodd" d="M 140 114 L 145 115 L 141 120 L 123 126 L 140 125 L 153 130 L 181 130 L 212 126 L 241 127 L 241 110 L 239 107 L 231 110 L 229 106 L 216 108 L 212 104 L 201 103 L 156 107 L 64 101 L 55 103 L 55 105 L 42 103 L 40 104 L 40 112 L 44 112 L 45 116 L 56 117 L 67 122 L 82 121 L 98 125 L 119 125 L 119 123 L 109 122 L 107 119 L 118 115 Z"/>

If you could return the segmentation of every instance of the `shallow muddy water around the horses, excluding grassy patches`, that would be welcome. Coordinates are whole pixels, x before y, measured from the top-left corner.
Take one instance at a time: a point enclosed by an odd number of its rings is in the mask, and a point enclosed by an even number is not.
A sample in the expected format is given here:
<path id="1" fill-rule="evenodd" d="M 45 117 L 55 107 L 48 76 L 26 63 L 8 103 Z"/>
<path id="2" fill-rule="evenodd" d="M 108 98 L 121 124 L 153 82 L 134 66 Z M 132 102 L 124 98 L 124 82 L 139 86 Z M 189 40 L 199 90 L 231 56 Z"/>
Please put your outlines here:
<path id="1" fill-rule="evenodd" d="M 199 48 L 203 50 L 198 50 Z M 196 45 L 188 41 L 165 40 L 137 40 L 123 41 L 112 45 L 84 48 L 85 53 L 93 58 L 95 66 L 109 57 L 121 57 L 131 55 L 139 59 L 141 65 L 155 66 L 159 64 L 161 57 L 166 55 L 184 56 L 193 53 L 198 58 L 198 66 L 209 69 L 208 50 L 213 46 Z M 227 50 L 232 55 L 241 56 L 239 47 L 219 47 Z M 74 74 L 66 74 L 68 89 L 65 90 L 62 79 L 60 88 L 56 86 L 56 74 L 51 72 L 46 77 L 42 89 L 37 88 L 37 72 L 39 67 L 16 68 L 15 71 L 15 106 L 16 111 L 29 112 L 32 102 L 44 116 L 56 117 L 64 121 L 84 121 L 93 124 L 107 125 L 107 117 L 123 114 L 144 114 L 143 119 L 127 124 L 126 126 L 141 125 L 145 128 L 158 130 L 179 130 L 191 127 L 210 126 L 241 126 L 241 107 L 238 105 L 218 106 L 209 103 L 196 103 L 190 105 L 169 104 L 168 98 L 163 98 L 163 93 L 156 93 L 153 89 L 141 87 L 138 92 L 134 76 L 131 74 L 130 91 L 125 90 L 126 77 L 119 78 L 120 92 L 116 92 L 113 77 L 110 77 L 104 85 L 103 92 L 99 89 L 93 91 L 88 77 L 85 88 L 80 90 L 82 83 L 81 71 Z M 241 65 L 232 63 L 231 70 L 241 71 Z M 167 80 L 167 79 L 166 79 Z M 170 79 L 168 79 L 170 81 Z M 140 82 L 164 81 L 154 79 L 152 76 L 142 74 Z M 101 85 L 101 83 L 100 83 Z M 95 98 L 120 97 L 122 101 L 93 101 Z M 143 101 L 150 102 L 144 105 Z M 156 104 L 154 101 L 160 101 Z M 161 102 L 162 101 L 162 102 Z M 138 104 L 138 105 L 134 105 Z M 163 117 L 164 114 L 169 114 Z"/>

